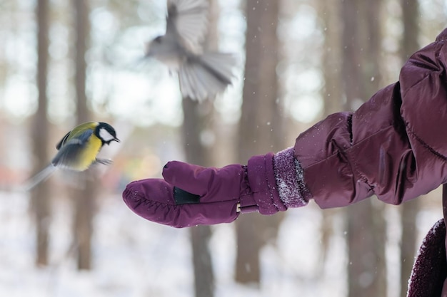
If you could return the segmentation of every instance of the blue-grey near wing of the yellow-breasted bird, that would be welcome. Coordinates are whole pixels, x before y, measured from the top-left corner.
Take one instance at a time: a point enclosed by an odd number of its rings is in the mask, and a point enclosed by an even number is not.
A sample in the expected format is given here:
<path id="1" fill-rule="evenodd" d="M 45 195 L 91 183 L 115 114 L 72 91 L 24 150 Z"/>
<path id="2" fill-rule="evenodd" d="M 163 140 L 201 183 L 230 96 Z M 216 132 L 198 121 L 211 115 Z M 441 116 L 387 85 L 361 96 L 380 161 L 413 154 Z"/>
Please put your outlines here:
<path id="1" fill-rule="evenodd" d="M 70 167 L 71 162 L 74 162 L 79 157 L 82 149 L 86 145 L 86 142 L 89 141 L 89 138 L 93 135 L 92 129 L 87 129 L 82 132 L 76 138 L 73 138 L 69 141 L 64 142 L 62 140 L 62 145 L 59 148 L 59 152 L 57 155 L 51 160 L 51 164 L 59 167 Z"/>

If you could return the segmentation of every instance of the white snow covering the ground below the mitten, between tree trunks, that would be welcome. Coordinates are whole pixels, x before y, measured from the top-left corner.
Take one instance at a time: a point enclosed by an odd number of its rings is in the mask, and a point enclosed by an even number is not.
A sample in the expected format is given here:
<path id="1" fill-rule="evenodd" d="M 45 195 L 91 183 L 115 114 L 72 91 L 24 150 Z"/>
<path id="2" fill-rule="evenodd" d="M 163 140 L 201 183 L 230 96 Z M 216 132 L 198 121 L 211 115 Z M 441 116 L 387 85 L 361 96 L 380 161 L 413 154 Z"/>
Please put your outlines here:
<path id="1" fill-rule="evenodd" d="M 118 195 L 102 199 L 94 222 L 94 268 L 77 271 L 70 249 L 71 204 L 56 200 L 53 208 L 51 264 L 36 268 L 28 197 L 0 193 L 0 296 L 194 296 L 188 229 L 141 219 Z M 322 266 L 320 239 L 315 236 L 321 214 L 313 205 L 287 212 L 277 244 L 261 251 L 261 288 L 234 283 L 234 226 L 213 226 L 216 297 L 345 296 L 343 235 L 331 239 Z M 341 222 L 335 225 L 340 231 Z"/>

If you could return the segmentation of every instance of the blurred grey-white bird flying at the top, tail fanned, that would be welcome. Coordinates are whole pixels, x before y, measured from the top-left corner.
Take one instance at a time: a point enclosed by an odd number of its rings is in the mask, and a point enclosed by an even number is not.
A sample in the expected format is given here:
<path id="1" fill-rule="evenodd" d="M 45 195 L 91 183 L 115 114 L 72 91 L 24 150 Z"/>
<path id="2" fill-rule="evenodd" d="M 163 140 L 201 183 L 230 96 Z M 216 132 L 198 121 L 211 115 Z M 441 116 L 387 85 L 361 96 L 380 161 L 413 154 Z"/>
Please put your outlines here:
<path id="1" fill-rule="evenodd" d="M 166 33 L 146 44 L 146 57 L 178 73 L 181 94 L 193 100 L 214 98 L 231 84 L 236 57 L 204 49 L 208 0 L 168 0 Z"/>

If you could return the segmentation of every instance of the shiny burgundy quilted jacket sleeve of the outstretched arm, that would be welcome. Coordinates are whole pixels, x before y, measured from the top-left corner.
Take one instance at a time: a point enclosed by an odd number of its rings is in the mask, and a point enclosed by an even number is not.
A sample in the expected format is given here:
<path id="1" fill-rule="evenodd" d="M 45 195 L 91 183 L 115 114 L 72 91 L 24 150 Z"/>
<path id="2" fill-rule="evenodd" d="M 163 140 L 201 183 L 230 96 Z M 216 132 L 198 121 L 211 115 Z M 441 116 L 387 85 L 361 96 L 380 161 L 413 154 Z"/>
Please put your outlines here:
<path id="1" fill-rule="evenodd" d="M 447 29 L 354 113 L 330 115 L 298 136 L 301 197 L 322 208 L 373 194 L 400 204 L 446 182 L 446 40 Z"/>

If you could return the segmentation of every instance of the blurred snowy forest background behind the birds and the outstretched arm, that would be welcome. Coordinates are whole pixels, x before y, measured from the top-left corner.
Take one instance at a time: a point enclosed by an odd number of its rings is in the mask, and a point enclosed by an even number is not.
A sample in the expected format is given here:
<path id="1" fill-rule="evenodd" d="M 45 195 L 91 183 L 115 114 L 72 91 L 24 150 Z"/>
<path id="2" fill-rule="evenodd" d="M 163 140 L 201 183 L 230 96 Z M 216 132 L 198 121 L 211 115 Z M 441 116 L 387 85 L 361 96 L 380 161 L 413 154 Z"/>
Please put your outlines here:
<path id="1" fill-rule="evenodd" d="M 166 2 L 0 0 L 0 293 L 8 296 L 406 296 L 417 246 L 442 217 L 438 190 L 233 224 L 172 229 L 121 201 L 169 160 L 220 167 L 277 152 L 326 115 L 398 79 L 446 25 L 442 0 L 210 0 L 209 48 L 236 53 L 226 93 L 181 98 L 143 61 Z M 82 189 L 55 174 L 15 191 L 77 123 L 121 144 Z"/>

